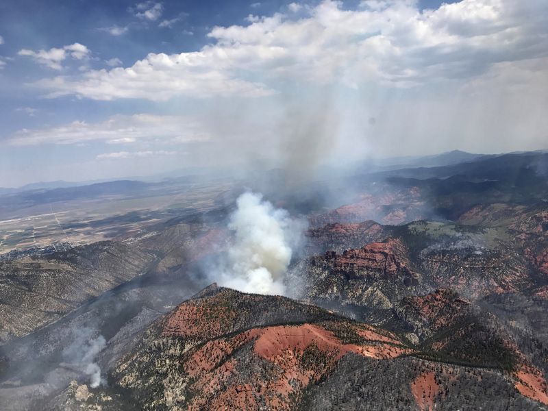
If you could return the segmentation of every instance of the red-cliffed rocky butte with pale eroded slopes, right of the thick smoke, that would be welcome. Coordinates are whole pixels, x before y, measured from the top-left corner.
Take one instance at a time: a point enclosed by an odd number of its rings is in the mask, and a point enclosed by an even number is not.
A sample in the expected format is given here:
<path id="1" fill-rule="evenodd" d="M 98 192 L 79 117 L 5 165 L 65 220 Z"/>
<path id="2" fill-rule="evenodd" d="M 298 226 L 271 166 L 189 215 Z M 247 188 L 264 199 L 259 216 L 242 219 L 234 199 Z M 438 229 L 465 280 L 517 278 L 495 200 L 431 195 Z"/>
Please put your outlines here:
<path id="1" fill-rule="evenodd" d="M 407 247 L 395 238 L 341 254 L 327 251 L 295 266 L 289 281 L 295 279 L 301 295 L 313 303 L 382 323 L 395 301 L 431 290 L 408 256 Z"/>

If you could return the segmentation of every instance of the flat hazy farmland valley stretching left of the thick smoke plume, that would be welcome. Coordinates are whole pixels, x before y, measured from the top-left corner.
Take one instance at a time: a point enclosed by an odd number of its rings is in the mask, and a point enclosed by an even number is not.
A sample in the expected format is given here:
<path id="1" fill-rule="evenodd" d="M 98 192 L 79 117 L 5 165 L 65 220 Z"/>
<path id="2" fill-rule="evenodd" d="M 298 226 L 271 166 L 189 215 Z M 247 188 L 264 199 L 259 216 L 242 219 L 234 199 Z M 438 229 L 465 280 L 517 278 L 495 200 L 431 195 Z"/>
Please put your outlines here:
<path id="1" fill-rule="evenodd" d="M 0 196 L 0 255 L 2 259 L 8 253 L 8 258 L 19 258 L 29 250 L 49 253 L 139 236 L 156 223 L 219 207 L 219 195 L 231 188 L 231 184 L 215 180 L 143 184 L 131 190 L 121 187 L 119 192 L 98 190 L 86 197 L 72 188 Z M 12 207 L 2 203 L 6 197 Z M 59 197 L 65 199 L 60 201 Z"/>

